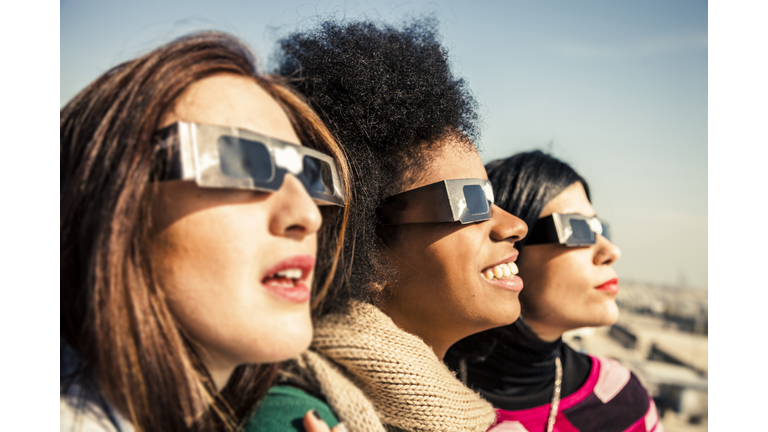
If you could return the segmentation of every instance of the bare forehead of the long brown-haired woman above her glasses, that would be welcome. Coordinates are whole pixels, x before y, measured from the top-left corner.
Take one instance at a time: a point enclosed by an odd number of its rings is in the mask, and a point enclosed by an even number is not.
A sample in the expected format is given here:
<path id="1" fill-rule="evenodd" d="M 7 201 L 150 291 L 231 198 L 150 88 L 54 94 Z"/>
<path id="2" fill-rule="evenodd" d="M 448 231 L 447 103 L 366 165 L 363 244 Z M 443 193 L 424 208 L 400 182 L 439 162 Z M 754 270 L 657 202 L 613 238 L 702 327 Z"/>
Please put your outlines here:
<path id="1" fill-rule="evenodd" d="M 300 144 L 280 105 L 253 78 L 218 74 L 191 84 L 165 113 L 161 127 L 176 121 L 233 126 Z"/>

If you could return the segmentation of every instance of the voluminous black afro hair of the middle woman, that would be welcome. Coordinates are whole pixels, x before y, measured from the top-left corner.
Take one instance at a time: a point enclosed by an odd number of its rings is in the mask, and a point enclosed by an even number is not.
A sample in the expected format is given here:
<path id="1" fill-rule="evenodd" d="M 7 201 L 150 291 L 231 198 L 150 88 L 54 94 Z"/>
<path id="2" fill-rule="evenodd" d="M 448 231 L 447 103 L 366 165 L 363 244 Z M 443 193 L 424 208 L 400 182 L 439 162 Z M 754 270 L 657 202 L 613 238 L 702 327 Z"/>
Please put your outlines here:
<path id="1" fill-rule="evenodd" d="M 372 21 L 325 21 L 279 42 L 277 73 L 289 78 L 339 140 L 352 167 L 354 266 L 339 272 L 320 313 L 356 298 L 373 301 L 393 271 L 378 249 L 376 208 L 400 190 L 424 157 L 460 137 L 473 148 L 477 103 L 451 72 L 434 18 L 402 27 Z M 350 255 L 351 254 L 351 255 Z"/>

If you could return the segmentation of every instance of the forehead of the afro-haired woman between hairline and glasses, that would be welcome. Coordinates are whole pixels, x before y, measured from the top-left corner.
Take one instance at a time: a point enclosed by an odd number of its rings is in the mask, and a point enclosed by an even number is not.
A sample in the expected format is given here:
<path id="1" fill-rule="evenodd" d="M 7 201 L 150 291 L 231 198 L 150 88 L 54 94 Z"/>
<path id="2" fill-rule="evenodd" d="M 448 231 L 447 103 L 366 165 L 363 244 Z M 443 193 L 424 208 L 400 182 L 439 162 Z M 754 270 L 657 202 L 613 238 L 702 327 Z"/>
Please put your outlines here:
<path id="1" fill-rule="evenodd" d="M 447 138 L 445 144 L 423 155 L 426 163 L 420 164 L 417 173 L 409 176 L 409 181 L 403 184 L 402 190 L 407 191 L 426 186 L 441 180 L 479 178 L 488 179 L 480 155 L 466 141 Z"/>

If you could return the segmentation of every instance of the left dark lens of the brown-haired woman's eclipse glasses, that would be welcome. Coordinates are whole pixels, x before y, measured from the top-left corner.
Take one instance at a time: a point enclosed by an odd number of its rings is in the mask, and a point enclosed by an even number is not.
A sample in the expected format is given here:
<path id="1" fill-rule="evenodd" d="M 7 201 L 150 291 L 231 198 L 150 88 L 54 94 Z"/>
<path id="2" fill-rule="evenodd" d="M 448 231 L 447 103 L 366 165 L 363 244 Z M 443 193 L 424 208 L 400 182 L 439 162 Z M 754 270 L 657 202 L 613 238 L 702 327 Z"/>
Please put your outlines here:
<path id="1" fill-rule="evenodd" d="M 267 147 L 258 142 L 231 136 L 218 141 L 221 172 L 236 178 L 266 181 L 272 178 L 272 159 Z"/>

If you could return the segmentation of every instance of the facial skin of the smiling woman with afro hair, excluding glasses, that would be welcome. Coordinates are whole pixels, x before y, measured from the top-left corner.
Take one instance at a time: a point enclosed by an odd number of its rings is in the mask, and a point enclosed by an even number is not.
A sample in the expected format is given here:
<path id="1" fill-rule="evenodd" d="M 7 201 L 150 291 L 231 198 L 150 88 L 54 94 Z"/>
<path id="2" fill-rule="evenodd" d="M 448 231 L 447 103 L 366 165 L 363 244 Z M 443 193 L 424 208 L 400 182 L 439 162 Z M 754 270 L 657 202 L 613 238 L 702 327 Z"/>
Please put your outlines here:
<path id="1" fill-rule="evenodd" d="M 487 179 L 477 152 L 461 145 L 448 143 L 429 154 L 434 162 L 401 192 L 444 179 Z M 517 256 L 514 242 L 528 231 L 522 220 L 494 205 L 493 217 L 484 222 L 397 229 L 386 254 L 399 276 L 387 285 L 380 306 L 400 328 L 421 337 L 439 359 L 460 339 L 510 324 L 520 315 L 519 292 L 490 284 L 480 272 Z"/>

